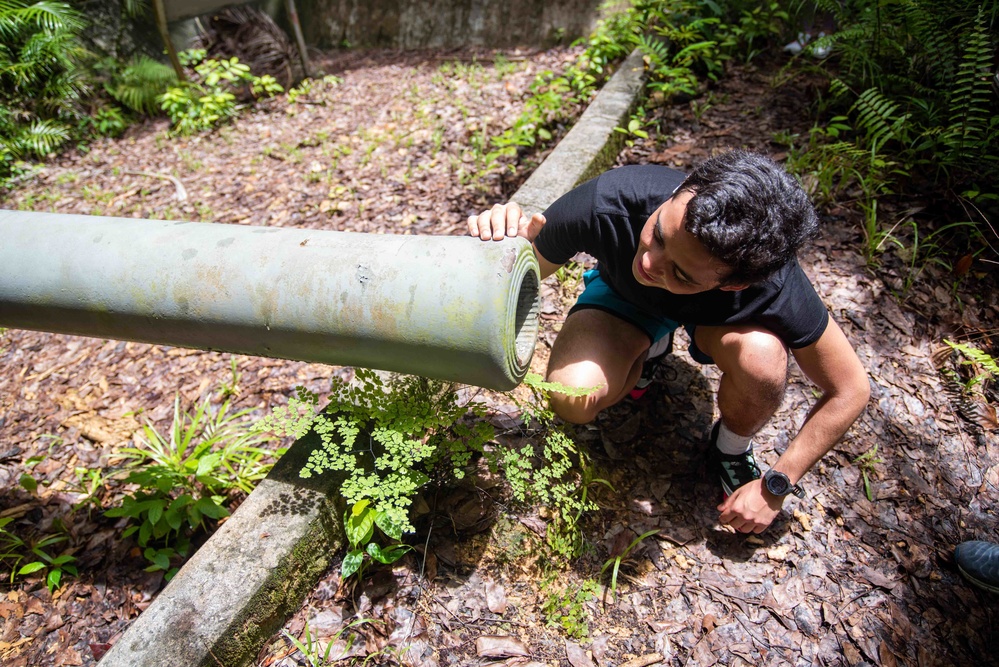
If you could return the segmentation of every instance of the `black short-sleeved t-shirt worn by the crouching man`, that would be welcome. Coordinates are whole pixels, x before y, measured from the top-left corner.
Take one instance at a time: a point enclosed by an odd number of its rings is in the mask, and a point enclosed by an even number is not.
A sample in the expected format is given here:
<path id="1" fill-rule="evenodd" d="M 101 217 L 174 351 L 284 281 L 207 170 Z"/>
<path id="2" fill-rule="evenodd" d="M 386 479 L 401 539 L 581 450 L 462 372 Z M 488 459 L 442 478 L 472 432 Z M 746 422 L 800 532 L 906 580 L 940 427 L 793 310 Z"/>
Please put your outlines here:
<path id="1" fill-rule="evenodd" d="M 659 165 L 612 169 L 563 195 L 535 239 L 541 256 L 564 264 L 577 252 L 599 261 L 600 276 L 643 311 L 687 325 L 754 322 L 789 347 L 802 348 L 825 331 L 828 312 L 796 259 L 770 278 L 737 292 L 673 294 L 635 280 L 632 261 L 649 216 L 669 199 L 684 174 Z"/>

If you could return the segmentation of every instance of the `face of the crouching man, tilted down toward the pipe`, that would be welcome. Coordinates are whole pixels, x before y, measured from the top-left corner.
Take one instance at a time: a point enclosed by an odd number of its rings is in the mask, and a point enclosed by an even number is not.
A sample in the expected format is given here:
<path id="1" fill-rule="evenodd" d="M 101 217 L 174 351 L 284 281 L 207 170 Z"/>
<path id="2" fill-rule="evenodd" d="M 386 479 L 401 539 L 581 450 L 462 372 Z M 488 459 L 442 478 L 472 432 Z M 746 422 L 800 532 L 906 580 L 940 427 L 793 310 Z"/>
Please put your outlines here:
<path id="1" fill-rule="evenodd" d="M 687 202 L 693 196 L 689 191 L 677 193 L 649 217 L 638 237 L 638 252 L 631 265 L 635 280 L 673 294 L 743 289 L 743 285 L 722 286 L 731 269 L 683 228 Z"/>

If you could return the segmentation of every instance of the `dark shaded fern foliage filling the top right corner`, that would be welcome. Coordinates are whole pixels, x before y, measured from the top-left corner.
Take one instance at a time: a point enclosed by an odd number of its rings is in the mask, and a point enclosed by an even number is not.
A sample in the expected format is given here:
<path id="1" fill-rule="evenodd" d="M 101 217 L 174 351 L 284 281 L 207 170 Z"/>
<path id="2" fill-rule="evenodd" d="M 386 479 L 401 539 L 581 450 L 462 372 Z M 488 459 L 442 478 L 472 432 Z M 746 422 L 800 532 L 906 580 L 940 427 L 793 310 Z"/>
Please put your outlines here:
<path id="1" fill-rule="evenodd" d="M 818 135 L 813 132 L 809 146 L 798 149 L 799 154 L 813 151 L 812 164 L 798 173 L 807 179 L 838 171 L 827 179 L 833 187 L 823 198 L 848 194 L 854 199 L 853 189 L 860 186 L 857 206 L 864 215 L 868 260 L 872 248 L 890 240 L 908 265 L 903 292 L 922 265 L 939 262 L 945 250 L 961 256 L 995 248 L 984 237 L 994 235 L 990 219 L 999 214 L 999 95 L 994 89 L 999 5 L 992 0 L 816 0 L 814 9 L 831 15 L 838 29 L 811 42 L 804 59 L 828 51 L 838 76 L 830 82 Z M 831 127 L 835 133 L 828 132 Z M 823 133 L 829 142 L 814 141 Z M 839 166 L 830 171 L 830 163 Z M 876 212 L 884 195 L 931 198 L 932 216 L 883 226 Z M 904 234 L 896 232 L 899 225 Z M 933 249 L 940 254 L 927 252 Z"/>

